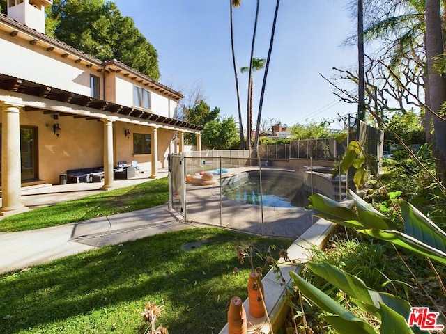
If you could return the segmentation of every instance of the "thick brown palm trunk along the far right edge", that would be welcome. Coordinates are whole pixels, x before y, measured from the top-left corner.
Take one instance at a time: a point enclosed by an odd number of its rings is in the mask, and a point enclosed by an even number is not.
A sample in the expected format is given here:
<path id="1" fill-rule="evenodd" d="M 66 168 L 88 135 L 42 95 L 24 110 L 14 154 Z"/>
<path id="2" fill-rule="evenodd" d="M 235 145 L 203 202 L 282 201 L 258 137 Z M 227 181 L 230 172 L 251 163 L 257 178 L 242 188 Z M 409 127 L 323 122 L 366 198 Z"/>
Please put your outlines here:
<path id="1" fill-rule="evenodd" d="M 426 54 L 429 73 L 429 100 L 435 130 L 437 171 L 440 180 L 446 176 L 446 120 L 438 115 L 441 105 L 446 100 L 446 81 L 433 68 L 434 57 L 443 54 L 441 34 L 440 0 L 426 0 Z M 440 113 L 441 114 L 441 113 Z"/>

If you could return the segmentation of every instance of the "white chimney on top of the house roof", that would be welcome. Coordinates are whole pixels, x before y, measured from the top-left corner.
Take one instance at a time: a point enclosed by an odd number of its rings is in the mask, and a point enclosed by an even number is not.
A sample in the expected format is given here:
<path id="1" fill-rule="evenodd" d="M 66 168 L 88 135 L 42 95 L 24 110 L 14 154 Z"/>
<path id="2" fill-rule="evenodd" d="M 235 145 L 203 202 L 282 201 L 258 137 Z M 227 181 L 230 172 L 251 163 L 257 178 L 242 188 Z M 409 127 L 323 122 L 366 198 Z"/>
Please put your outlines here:
<path id="1" fill-rule="evenodd" d="M 8 17 L 29 28 L 45 33 L 45 7 L 53 0 L 7 0 Z"/>

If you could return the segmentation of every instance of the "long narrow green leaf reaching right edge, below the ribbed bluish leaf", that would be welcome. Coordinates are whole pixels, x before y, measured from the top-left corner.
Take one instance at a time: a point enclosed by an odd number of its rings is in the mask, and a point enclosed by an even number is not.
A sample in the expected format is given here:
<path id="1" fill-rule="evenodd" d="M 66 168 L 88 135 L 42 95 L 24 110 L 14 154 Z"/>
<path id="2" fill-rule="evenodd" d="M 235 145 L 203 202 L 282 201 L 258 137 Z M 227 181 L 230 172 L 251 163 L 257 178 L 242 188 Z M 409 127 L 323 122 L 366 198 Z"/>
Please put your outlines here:
<path id="1" fill-rule="evenodd" d="M 429 246 L 428 244 L 422 243 L 422 241 L 410 237 L 408 234 L 404 234 L 399 231 L 383 231 L 376 229 L 360 230 L 359 232 L 370 235 L 377 239 L 384 241 L 389 241 L 392 244 L 406 248 L 407 250 L 413 251 L 420 255 L 427 256 L 432 260 L 436 260 L 442 264 L 446 264 L 446 253 Z"/>

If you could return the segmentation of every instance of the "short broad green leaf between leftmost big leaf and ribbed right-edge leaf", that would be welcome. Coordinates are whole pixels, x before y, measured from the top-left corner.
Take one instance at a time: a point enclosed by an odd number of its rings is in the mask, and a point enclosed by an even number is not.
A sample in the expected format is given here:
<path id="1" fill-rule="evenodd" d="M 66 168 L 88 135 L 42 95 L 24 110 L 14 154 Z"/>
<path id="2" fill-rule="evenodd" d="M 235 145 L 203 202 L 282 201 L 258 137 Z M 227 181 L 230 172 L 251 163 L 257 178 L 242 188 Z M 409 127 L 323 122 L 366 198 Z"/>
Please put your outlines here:
<path id="1" fill-rule="evenodd" d="M 359 220 L 365 228 L 379 228 L 382 230 L 395 230 L 396 226 L 389 218 L 378 212 L 374 207 L 369 205 L 365 200 L 357 196 L 350 189 L 349 196 L 353 198 Z"/>

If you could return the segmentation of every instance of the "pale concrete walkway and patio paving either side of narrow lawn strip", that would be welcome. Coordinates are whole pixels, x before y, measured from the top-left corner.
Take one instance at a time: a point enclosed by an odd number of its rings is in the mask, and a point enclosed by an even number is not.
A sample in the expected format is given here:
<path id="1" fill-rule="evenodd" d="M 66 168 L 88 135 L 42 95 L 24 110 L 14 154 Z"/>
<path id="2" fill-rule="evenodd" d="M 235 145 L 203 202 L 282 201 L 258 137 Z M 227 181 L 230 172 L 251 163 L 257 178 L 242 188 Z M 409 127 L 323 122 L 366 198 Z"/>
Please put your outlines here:
<path id="1" fill-rule="evenodd" d="M 132 180 L 116 180 L 114 186 L 122 188 L 153 179 L 139 175 Z M 167 176 L 162 170 L 158 178 Z M 95 193 L 102 183 L 81 183 L 24 187 L 22 198 L 30 209 L 75 200 Z M 0 221 L 1 224 L 1 221 Z M 120 244 L 149 235 L 190 228 L 192 224 L 180 222 L 167 204 L 89 221 L 23 232 L 0 232 L 0 273 L 50 262 L 52 260 L 92 250 L 107 244 Z"/>

